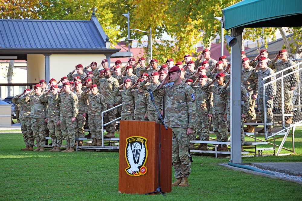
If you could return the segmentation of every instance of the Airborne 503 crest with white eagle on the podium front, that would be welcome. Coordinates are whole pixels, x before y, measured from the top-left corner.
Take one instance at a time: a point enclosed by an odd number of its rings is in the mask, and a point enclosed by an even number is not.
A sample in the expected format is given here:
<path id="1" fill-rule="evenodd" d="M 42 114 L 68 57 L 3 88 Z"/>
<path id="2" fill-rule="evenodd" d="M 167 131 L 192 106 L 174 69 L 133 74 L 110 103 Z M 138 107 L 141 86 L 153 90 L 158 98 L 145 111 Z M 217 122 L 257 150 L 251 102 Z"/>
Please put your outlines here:
<path id="1" fill-rule="evenodd" d="M 126 142 L 125 158 L 129 167 L 125 171 L 131 176 L 146 174 L 147 168 L 145 167 L 145 163 L 148 156 L 147 139 L 133 136 L 128 137 Z"/>

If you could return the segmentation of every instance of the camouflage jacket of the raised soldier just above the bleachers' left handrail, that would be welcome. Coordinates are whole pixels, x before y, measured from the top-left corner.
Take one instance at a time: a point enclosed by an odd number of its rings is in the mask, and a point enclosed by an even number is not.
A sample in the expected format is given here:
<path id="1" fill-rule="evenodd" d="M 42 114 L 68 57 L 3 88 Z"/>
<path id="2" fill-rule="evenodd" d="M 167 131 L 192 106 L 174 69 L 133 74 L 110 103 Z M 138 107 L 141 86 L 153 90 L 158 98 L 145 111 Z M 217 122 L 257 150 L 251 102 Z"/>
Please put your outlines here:
<path id="1" fill-rule="evenodd" d="M 101 78 L 96 76 L 94 77 L 97 86 L 100 86 L 99 93 L 104 96 L 107 104 L 114 104 L 115 96 L 112 95 L 113 91 L 118 88 L 120 85 L 114 77 Z"/>

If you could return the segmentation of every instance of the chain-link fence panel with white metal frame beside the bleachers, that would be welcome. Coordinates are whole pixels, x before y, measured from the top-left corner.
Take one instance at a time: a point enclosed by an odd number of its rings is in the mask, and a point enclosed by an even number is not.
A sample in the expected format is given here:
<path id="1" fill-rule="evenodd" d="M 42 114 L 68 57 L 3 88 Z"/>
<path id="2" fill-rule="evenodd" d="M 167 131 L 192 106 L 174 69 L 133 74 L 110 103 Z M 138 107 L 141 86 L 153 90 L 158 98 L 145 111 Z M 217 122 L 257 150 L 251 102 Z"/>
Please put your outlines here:
<path id="1" fill-rule="evenodd" d="M 302 59 L 291 60 L 296 64 L 263 78 L 271 80 L 263 84 L 265 139 L 302 122 Z"/>

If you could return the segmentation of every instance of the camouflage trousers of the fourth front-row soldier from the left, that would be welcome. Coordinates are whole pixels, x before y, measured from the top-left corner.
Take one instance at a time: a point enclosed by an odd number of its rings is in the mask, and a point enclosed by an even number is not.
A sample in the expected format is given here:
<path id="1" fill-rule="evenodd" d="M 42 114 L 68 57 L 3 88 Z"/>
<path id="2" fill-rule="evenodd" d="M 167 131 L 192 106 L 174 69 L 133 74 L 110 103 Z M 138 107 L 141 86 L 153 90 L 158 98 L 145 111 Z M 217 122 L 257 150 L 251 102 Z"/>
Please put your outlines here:
<path id="1" fill-rule="evenodd" d="M 75 146 L 75 130 L 76 123 L 71 122 L 72 117 L 60 117 L 61 121 L 61 131 L 64 139 L 66 140 L 67 147 Z"/>

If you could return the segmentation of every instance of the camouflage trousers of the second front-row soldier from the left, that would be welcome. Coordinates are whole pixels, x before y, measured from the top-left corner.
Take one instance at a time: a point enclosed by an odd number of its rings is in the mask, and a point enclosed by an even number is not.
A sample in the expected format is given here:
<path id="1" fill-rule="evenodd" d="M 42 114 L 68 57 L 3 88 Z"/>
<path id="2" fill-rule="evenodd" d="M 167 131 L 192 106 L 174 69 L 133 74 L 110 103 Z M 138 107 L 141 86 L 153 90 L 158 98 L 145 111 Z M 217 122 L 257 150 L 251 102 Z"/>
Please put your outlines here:
<path id="1" fill-rule="evenodd" d="M 45 118 L 31 119 L 31 130 L 34 133 L 34 138 L 37 146 L 45 146 L 46 123 Z"/>

